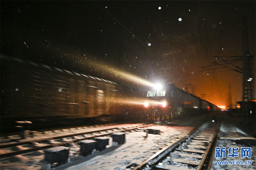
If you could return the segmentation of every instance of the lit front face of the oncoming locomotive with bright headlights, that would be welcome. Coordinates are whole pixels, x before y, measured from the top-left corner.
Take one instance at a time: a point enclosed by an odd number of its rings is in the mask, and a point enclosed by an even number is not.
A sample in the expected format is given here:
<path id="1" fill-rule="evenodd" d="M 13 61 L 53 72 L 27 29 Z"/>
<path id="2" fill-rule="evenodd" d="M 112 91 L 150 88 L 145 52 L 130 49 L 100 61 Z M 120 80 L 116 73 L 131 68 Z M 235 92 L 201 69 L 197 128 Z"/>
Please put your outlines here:
<path id="1" fill-rule="evenodd" d="M 158 84 L 154 89 L 147 91 L 147 98 L 144 102 L 144 107 L 148 120 L 169 120 L 170 107 L 166 96 L 167 90 L 167 87 L 163 87 Z"/>

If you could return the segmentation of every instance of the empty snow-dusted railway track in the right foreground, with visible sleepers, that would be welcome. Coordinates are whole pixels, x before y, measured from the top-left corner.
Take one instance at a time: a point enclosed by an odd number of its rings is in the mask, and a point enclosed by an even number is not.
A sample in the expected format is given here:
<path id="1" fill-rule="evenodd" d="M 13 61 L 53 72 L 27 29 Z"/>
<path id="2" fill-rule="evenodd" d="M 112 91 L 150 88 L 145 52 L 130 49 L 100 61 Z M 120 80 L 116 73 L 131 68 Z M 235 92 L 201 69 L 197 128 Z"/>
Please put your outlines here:
<path id="1" fill-rule="evenodd" d="M 219 124 L 208 122 L 166 146 L 133 170 L 188 170 L 202 169 L 212 143 L 217 138 Z"/>

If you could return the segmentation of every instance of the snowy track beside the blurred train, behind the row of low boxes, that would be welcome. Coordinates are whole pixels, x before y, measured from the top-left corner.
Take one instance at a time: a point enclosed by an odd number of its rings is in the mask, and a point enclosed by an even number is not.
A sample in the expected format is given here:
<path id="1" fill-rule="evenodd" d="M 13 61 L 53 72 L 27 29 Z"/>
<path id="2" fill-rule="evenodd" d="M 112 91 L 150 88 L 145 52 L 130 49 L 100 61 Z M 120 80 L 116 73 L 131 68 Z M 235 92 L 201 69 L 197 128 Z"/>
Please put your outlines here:
<path id="1" fill-rule="evenodd" d="M 34 152 L 46 148 L 56 147 L 56 146 L 67 146 L 69 143 L 72 142 L 78 142 L 80 140 L 86 140 L 86 139 L 93 139 L 95 137 L 102 137 L 102 136 L 108 136 L 112 133 L 116 132 L 126 132 L 131 130 L 136 130 L 138 128 L 144 128 L 147 126 L 155 125 L 153 124 L 137 124 L 130 127 L 124 127 L 124 128 L 108 128 L 108 129 L 101 129 L 97 131 L 90 131 L 90 132 L 82 132 L 82 133 L 72 133 L 68 135 L 61 135 L 56 137 L 49 137 L 49 138 L 43 138 L 43 139 L 37 139 L 37 140 L 30 140 L 30 141 L 22 141 L 22 142 L 16 142 L 16 143 L 5 143 L 0 145 L 0 158 L 25 154 L 29 152 Z M 61 133 L 63 131 L 59 131 Z M 22 148 L 18 151 L 13 151 L 15 148 Z M 4 149 L 4 151 L 3 151 Z M 8 153 L 5 153 L 8 151 Z"/>

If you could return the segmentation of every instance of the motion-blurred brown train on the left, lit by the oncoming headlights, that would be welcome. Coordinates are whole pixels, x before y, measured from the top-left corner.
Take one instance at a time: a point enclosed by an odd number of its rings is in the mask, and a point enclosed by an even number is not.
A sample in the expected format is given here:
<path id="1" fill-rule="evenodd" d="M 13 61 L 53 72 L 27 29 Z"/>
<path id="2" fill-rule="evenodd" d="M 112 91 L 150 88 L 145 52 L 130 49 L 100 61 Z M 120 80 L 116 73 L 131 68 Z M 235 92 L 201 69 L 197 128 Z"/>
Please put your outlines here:
<path id="1" fill-rule="evenodd" d="M 11 121 L 130 115 L 136 89 L 1 54 L 1 127 Z M 143 104 L 137 106 L 137 111 Z M 135 114 L 139 116 L 138 114 Z"/>

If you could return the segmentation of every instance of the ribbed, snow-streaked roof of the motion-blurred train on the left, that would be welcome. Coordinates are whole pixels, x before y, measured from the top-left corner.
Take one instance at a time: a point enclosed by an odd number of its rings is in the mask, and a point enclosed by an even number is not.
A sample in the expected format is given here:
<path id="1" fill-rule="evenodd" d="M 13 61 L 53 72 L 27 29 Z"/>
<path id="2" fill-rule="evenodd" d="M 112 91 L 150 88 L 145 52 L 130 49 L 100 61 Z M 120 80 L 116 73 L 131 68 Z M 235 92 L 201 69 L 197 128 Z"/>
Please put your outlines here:
<path id="1" fill-rule="evenodd" d="M 1 60 L 3 59 L 3 60 L 6 60 L 6 61 L 9 61 L 9 62 L 18 62 L 20 64 L 28 64 L 28 65 L 31 65 L 31 66 L 34 66 L 34 67 L 45 68 L 45 69 L 48 69 L 50 71 L 58 71 L 58 72 L 61 72 L 61 73 L 68 74 L 71 77 L 83 77 L 83 78 L 87 78 L 87 79 L 92 79 L 94 81 L 97 80 L 97 81 L 100 81 L 100 82 L 103 82 L 103 83 L 118 85 L 117 83 L 109 81 L 109 80 L 93 77 L 93 76 L 82 74 L 82 73 L 77 73 L 75 71 L 60 69 L 60 68 L 57 68 L 57 67 L 50 67 L 50 66 L 47 66 L 45 64 L 35 63 L 33 61 L 25 61 L 25 60 L 23 60 L 21 58 L 18 58 L 18 57 L 12 57 L 12 56 L 7 56 L 7 55 L 4 55 L 4 54 L 0 54 L 0 58 L 1 58 Z"/>

